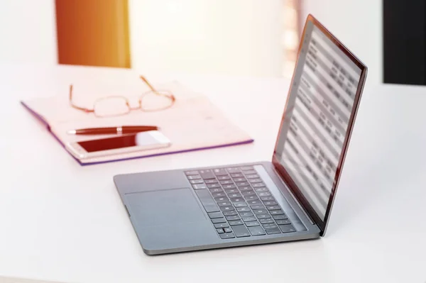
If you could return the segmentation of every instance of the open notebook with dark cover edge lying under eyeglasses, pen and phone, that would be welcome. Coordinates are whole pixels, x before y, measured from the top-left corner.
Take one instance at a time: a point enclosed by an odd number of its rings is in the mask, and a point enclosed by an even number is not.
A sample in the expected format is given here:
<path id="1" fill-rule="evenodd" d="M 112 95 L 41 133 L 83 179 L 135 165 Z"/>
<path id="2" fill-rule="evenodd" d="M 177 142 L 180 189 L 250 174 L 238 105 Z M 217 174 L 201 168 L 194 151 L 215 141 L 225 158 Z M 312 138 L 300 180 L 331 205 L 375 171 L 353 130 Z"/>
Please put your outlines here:
<path id="1" fill-rule="evenodd" d="M 138 77 L 138 76 L 136 76 Z M 103 162 L 153 157 L 192 150 L 206 150 L 231 145 L 252 143 L 253 139 L 231 123 L 217 106 L 198 92 L 192 91 L 177 81 L 154 83 L 156 89 L 168 89 L 176 97 L 175 104 L 163 111 L 131 111 L 124 116 L 99 118 L 70 107 L 67 87 L 64 93 L 48 97 L 21 101 L 21 104 L 38 118 L 65 148 L 66 143 L 82 140 L 109 138 L 114 135 L 69 135 L 67 131 L 76 128 L 99 128 L 111 126 L 159 126 L 160 131 L 170 139 L 168 148 L 127 152 L 119 155 L 85 158 L 72 156 L 80 165 L 94 165 Z M 125 95 L 131 104 L 137 103 L 138 94 L 148 90 L 143 82 L 127 84 L 106 83 L 102 86 L 74 84 L 73 100 L 79 105 L 90 107 L 96 99 L 109 95 Z"/>

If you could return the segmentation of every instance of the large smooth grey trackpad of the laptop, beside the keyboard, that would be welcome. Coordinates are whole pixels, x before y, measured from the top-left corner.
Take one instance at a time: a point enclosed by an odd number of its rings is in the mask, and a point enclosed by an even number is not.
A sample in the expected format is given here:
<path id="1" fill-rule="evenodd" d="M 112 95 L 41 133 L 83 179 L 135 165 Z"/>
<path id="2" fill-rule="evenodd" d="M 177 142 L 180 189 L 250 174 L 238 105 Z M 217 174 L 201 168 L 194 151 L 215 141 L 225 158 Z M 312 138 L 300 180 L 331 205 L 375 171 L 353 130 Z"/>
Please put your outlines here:
<path id="1" fill-rule="evenodd" d="M 138 226 L 175 225 L 205 221 L 191 189 L 165 189 L 126 194 L 131 218 Z"/>

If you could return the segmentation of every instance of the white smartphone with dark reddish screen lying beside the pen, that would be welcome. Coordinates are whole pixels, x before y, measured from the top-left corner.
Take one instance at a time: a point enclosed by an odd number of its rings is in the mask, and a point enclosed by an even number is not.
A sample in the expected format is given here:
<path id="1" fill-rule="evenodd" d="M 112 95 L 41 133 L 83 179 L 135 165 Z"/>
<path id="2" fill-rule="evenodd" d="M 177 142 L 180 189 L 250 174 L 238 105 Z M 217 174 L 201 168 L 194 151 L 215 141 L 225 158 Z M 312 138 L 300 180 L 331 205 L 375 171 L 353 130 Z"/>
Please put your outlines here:
<path id="1" fill-rule="evenodd" d="M 153 150 L 167 148 L 170 140 L 159 131 L 147 131 L 119 135 L 114 138 L 102 138 L 99 140 L 84 140 L 75 143 L 67 143 L 65 147 L 72 155 L 79 159 L 116 155 L 125 152 L 140 150 Z"/>

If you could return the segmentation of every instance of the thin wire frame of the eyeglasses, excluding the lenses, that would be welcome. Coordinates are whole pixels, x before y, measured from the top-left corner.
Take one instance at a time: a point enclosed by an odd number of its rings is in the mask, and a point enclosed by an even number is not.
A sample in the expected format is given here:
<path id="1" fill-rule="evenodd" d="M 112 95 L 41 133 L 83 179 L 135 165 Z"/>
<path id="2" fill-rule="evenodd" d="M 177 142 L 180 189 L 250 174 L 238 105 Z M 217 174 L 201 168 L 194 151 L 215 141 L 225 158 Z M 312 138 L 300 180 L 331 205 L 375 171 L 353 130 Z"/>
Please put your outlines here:
<path id="1" fill-rule="evenodd" d="M 86 113 L 94 113 L 94 115 L 95 115 L 95 116 L 97 116 L 97 117 L 114 117 L 114 116 L 121 116 L 121 115 L 129 114 L 129 113 L 130 113 L 131 111 L 133 111 L 133 110 L 141 110 L 141 111 L 144 111 L 144 112 L 162 111 L 162 110 L 165 110 L 165 109 L 169 109 L 170 107 L 172 107 L 172 106 L 173 106 L 173 104 L 175 104 L 176 98 L 175 98 L 175 96 L 171 93 L 171 91 L 167 91 L 169 94 L 162 94 L 162 93 L 160 93 L 160 92 L 159 92 L 159 90 L 156 90 L 156 89 L 152 86 L 152 84 L 150 84 L 150 82 L 148 82 L 148 79 L 146 79 L 146 77 L 143 77 L 143 76 L 141 75 L 141 76 L 139 76 L 139 78 L 140 78 L 140 79 L 142 79 L 142 80 L 143 80 L 143 82 L 145 82 L 145 83 L 146 83 L 146 85 L 147 85 L 147 86 L 148 86 L 151 90 L 146 91 L 146 92 L 143 92 L 143 94 L 139 97 L 139 99 L 138 99 L 138 107 L 131 107 L 131 106 L 130 106 L 130 103 L 129 103 L 129 99 L 127 99 L 127 97 L 126 97 L 126 96 L 120 96 L 120 95 L 106 96 L 106 97 L 102 97 L 102 98 L 100 98 L 100 99 L 97 99 L 96 101 L 94 101 L 93 109 L 88 109 L 88 108 L 85 108 L 85 107 L 78 106 L 78 105 L 74 104 L 74 102 L 72 101 L 72 89 L 73 89 L 73 85 L 72 85 L 72 84 L 70 84 L 70 94 L 69 94 L 69 102 L 70 102 L 70 106 L 71 106 L 72 108 L 74 108 L 74 109 L 77 109 L 77 110 L 80 110 L 80 111 L 84 111 L 84 112 L 86 112 Z M 160 90 L 160 91 L 163 91 L 163 90 Z M 170 99 L 170 100 L 171 100 L 171 104 L 170 104 L 170 106 L 166 106 L 166 107 L 164 107 L 164 108 L 162 108 L 162 109 L 155 109 L 155 110 L 146 110 L 146 109 L 143 109 L 143 108 L 142 108 L 142 99 L 143 99 L 143 96 L 145 96 L 146 94 L 149 94 L 149 93 L 154 93 L 154 94 L 156 94 L 156 95 L 158 95 L 158 96 L 167 97 L 168 99 Z M 104 100 L 104 99 L 114 99 L 114 98 L 124 99 L 124 100 L 126 101 L 126 106 L 127 106 L 127 108 L 129 109 L 129 111 L 127 111 L 126 113 L 120 113 L 120 114 L 116 114 L 116 115 L 98 116 L 98 115 L 96 114 L 96 111 L 94 110 L 94 106 L 97 104 L 97 102 L 102 101 L 102 100 Z"/>

